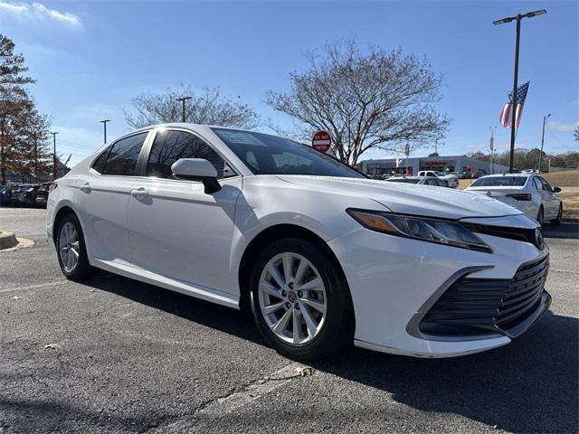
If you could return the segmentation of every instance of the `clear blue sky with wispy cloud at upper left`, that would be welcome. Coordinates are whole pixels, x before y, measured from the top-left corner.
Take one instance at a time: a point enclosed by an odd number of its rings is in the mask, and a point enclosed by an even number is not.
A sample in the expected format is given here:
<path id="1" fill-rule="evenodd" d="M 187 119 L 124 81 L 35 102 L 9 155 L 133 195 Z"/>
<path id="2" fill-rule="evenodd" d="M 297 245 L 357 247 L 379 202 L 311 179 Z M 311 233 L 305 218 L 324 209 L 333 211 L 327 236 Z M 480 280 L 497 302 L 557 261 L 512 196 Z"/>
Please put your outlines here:
<path id="1" fill-rule="evenodd" d="M 579 119 L 575 1 L 40 2 L 0 0 L 0 32 L 24 53 L 38 80 L 33 95 L 71 163 L 100 146 L 100 119 L 112 119 L 115 137 L 128 130 L 123 110 L 131 97 L 182 82 L 221 86 L 289 127 L 290 118 L 264 103 L 266 91 L 288 90 L 289 71 L 308 66 L 304 52 L 344 37 L 426 56 L 444 76 L 437 109 L 452 118 L 439 152 L 483 149 L 513 72 L 514 24 L 491 23 L 541 8 L 546 15 L 522 24 L 519 82 L 531 84 L 517 146 L 540 146 L 542 118 L 552 113 L 546 151 L 579 148 L 572 134 Z M 495 143 L 508 148 L 506 128 L 497 127 Z"/>

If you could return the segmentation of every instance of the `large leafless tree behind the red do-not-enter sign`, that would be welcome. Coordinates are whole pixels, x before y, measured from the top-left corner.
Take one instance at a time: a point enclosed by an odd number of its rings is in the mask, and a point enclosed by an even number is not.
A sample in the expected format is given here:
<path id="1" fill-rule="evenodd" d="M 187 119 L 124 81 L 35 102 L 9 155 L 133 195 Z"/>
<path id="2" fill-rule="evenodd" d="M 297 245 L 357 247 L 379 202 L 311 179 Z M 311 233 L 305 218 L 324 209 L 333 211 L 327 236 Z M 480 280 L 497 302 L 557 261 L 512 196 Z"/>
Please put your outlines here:
<path id="1" fill-rule="evenodd" d="M 368 149 L 399 152 L 443 137 L 449 119 L 435 111 L 441 77 L 428 61 L 401 49 L 361 52 L 356 41 L 306 54 L 309 69 L 289 74 L 289 93 L 268 92 L 267 103 L 298 119 L 304 133 L 327 130 L 337 157 L 349 165 Z"/>

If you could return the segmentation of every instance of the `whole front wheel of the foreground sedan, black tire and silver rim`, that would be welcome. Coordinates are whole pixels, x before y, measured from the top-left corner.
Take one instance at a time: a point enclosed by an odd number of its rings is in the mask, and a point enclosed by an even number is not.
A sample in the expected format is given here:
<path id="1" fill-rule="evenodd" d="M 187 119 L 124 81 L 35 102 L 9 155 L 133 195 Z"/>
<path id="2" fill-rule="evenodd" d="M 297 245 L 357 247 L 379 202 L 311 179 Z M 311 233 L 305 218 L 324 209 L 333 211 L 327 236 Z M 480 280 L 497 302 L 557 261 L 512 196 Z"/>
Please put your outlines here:
<path id="1" fill-rule="evenodd" d="M 323 249 L 297 238 L 261 251 L 251 278 L 253 319 L 278 353 L 316 360 L 354 340 L 354 314 L 342 270 Z"/>

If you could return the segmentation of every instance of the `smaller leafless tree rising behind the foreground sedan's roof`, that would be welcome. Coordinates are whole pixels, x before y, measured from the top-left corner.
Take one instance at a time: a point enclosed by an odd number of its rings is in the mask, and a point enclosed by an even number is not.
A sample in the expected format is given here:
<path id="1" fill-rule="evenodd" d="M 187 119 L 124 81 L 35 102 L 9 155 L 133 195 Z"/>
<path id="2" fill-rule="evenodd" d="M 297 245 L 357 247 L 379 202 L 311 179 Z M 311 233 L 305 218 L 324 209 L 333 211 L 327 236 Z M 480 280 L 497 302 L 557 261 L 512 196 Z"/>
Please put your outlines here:
<path id="1" fill-rule="evenodd" d="M 167 89 L 160 94 L 143 93 L 131 100 L 134 112 L 125 111 L 131 127 L 181 122 L 182 106 L 176 100 L 192 97 L 185 104 L 185 120 L 194 124 L 219 125 L 252 129 L 258 125 L 258 115 L 240 97 L 233 99 L 221 94 L 219 88 L 204 88 L 195 93 L 191 86 Z"/>

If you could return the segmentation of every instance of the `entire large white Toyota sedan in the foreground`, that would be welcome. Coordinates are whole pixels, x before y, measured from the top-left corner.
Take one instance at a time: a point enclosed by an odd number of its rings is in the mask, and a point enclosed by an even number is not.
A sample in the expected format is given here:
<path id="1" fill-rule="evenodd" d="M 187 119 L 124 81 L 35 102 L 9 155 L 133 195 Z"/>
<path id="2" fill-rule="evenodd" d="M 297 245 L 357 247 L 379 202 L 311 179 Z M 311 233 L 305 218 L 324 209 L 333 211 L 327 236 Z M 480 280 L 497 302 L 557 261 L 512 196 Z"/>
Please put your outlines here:
<path id="1" fill-rule="evenodd" d="M 352 343 L 477 353 L 550 304 L 548 248 L 522 212 L 370 180 L 309 146 L 231 128 L 119 137 L 52 186 L 47 231 L 67 278 L 105 269 L 251 307 L 267 342 L 299 359 Z"/>

